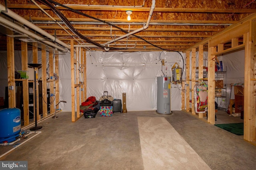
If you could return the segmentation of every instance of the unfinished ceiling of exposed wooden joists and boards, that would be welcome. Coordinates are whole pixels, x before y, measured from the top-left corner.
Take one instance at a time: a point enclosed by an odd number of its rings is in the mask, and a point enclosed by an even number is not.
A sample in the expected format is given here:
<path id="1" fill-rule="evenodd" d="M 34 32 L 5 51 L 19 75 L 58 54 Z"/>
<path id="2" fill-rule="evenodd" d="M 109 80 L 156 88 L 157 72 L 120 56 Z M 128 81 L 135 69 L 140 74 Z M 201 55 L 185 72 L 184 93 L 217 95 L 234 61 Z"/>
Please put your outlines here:
<path id="1" fill-rule="evenodd" d="M 0 17 L 41 36 L 44 41 L 17 31 L 12 34 L 14 37 L 21 37 L 20 39 L 27 42 L 31 39 L 31 43 L 39 41 L 43 44 L 52 41 L 55 45 L 60 45 L 55 40 L 68 45 L 73 40 L 79 47 L 96 51 L 186 51 L 194 44 L 256 12 L 255 0 L 7 0 L 7 4 L 4 0 L 0 2 L 55 39 L 49 39 L 34 28 L 10 17 L 8 12 L 1 11 Z M 127 21 L 128 10 L 132 11 L 130 21 Z M 8 28 L 9 31 L 6 31 L 3 29 L 6 25 L 1 25 L 0 50 L 6 50 L 6 34 L 11 35 L 8 32 L 13 30 Z M 19 41 L 15 43 L 16 49 L 20 47 Z M 242 39 L 240 41 L 242 42 Z M 227 42 L 226 48 L 229 45 Z M 207 51 L 207 46 L 204 48 Z"/>

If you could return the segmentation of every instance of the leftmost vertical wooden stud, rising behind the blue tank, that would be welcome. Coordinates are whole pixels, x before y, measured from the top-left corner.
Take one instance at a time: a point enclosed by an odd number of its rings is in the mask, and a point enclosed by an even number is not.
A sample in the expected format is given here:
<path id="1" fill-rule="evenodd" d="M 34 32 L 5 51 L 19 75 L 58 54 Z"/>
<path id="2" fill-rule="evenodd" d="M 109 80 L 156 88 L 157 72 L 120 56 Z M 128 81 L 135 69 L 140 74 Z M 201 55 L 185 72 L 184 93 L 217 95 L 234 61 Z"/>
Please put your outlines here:
<path id="1" fill-rule="evenodd" d="M 9 108 L 16 107 L 14 38 L 7 36 L 7 70 L 8 70 L 8 103 Z M 7 99 L 5 99 L 7 100 Z"/>

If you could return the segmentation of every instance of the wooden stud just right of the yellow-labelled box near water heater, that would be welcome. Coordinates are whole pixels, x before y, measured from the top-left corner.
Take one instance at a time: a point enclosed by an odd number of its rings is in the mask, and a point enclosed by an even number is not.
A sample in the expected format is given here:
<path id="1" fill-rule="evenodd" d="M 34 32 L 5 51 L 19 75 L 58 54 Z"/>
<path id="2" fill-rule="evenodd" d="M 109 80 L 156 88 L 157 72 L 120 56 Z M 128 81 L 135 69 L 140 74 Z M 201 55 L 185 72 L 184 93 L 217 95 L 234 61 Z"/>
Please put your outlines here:
<path id="1" fill-rule="evenodd" d="M 186 51 L 186 111 L 189 112 L 189 84 L 190 84 L 190 80 L 189 80 L 189 74 L 190 74 L 190 51 Z"/>

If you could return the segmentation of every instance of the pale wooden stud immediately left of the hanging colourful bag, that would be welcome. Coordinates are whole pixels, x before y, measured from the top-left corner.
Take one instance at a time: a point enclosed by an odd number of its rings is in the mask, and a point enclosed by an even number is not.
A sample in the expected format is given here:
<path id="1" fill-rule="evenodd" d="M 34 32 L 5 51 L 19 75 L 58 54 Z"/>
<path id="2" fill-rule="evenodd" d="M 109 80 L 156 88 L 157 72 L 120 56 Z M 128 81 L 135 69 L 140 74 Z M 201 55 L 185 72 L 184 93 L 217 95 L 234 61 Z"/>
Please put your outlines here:
<path id="1" fill-rule="evenodd" d="M 192 115 L 195 115 L 195 107 L 194 107 L 194 86 L 196 85 L 196 49 L 192 49 L 192 87 L 191 87 L 191 97 L 192 97 Z"/>

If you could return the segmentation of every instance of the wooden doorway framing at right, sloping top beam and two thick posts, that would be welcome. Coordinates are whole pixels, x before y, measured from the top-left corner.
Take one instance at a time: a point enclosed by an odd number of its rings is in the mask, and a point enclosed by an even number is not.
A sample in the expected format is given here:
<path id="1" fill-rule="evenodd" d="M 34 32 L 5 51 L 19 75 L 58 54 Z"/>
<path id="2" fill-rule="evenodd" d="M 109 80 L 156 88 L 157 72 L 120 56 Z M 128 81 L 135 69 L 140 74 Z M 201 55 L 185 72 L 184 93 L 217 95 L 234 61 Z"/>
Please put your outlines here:
<path id="1" fill-rule="evenodd" d="M 239 45 L 238 37 L 243 38 Z M 224 49 L 223 45 L 231 41 L 232 47 Z M 208 44 L 208 123 L 215 123 L 214 87 L 215 62 L 214 59 L 221 54 L 237 49 L 245 49 L 244 70 L 244 140 L 256 141 L 256 14 L 252 14 L 239 23 L 232 25 L 211 38 L 205 39 L 190 47 L 188 51 L 198 48 L 199 45 Z M 218 47 L 218 52 L 217 51 Z M 188 53 L 188 52 L 187 52 Z M 192 62 L 193 63 L 193 62 Z M 192 72 L 194 72 L 192 68 Z"/>

